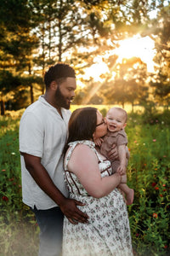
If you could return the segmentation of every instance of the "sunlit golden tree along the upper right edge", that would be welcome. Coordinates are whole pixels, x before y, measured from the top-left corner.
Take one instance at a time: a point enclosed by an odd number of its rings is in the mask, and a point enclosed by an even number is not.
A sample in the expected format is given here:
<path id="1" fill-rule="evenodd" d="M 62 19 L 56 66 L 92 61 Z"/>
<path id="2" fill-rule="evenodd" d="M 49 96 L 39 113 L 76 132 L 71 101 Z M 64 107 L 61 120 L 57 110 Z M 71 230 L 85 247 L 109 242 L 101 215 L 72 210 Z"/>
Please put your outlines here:
<path id="1" fill-rule="evenodd" d="M 157 103 L 166 108 L 170 99 L 170 3 L 166 4 L 167 1 L 163 0 L 158 2 L 157 17 L 150 23 L 151 37 L 155 40 L 157 51 L 154 59 L 156 73 L 150 79 L 150 86 L 154 89 Z"/>

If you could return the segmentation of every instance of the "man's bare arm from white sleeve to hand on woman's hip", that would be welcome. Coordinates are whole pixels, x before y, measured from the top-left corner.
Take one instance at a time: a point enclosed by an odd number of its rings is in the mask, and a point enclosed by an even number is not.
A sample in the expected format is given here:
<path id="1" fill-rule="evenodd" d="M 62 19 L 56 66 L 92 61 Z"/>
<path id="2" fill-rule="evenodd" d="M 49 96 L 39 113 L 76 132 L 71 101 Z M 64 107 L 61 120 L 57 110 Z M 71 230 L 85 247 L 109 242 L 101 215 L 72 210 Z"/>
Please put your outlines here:
<path id="1" fill-rule="evenodd" d="M 87 222 L 88 215 L 77 208 L 77 205 L 83 206 L 83 204 L 80 201 L 67 199 L 62 195 L 59 189 L 54 185 L 51 177 L 49 177 L 46 169 L 42 166 L 41 158 L 31 154 L 21 154 L 24 156 L 26 169 L 30 172 L 31 177 L 34 178 L 37 185 L 60 207 L 61 211 L 71 223 Z"/>

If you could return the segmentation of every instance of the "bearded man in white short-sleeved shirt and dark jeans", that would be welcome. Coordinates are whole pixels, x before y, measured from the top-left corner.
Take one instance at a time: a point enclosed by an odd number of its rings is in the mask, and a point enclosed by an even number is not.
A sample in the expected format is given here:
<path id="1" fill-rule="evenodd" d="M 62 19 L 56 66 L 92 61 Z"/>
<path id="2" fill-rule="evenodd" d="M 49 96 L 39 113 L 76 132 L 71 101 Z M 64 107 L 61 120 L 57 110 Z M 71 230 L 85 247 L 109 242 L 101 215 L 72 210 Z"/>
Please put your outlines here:
<path id="1" fill-rule="evenodd" d="M 75 71 L 58 63 L 44 75 L 46 92 L 20 120 L 20 158 L 23 202 L 31 207 L 40 227 L 39 255 L 61 252 L 63 217 L 72 224 L 86 222 L 79 201 L 67 199 L 62 151 L 77 88 Z"/>

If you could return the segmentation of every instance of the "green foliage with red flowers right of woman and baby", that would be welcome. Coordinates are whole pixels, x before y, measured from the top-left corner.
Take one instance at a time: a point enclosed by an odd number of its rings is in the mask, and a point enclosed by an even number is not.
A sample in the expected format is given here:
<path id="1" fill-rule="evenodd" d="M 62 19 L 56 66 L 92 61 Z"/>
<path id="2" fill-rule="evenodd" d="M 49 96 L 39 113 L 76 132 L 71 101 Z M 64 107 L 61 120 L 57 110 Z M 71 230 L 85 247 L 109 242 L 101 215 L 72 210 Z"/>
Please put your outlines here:
<path id="1" fill-rule="evenodd" d="M 164 114 L 161 113 L 161 118 Z M 165 114 L 166 119 L 166 114 Z M 169 255 L 170 196 L 168 125 L 158 120 L 142 125 L 139 116 L 129 117 L 128 147 L 131 153 L 127 180 L 135 191 L 128 207 L 133 249 L 138 255 Z"/>

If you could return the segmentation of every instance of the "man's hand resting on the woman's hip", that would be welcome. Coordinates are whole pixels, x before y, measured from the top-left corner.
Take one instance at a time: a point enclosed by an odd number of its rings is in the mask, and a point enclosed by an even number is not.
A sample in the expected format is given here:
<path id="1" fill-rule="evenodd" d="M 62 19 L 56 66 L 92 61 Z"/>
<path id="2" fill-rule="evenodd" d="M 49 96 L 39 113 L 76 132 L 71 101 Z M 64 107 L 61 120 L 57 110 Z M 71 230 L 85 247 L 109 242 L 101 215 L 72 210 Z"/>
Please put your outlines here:
<path id="1" fill-rule="evenodd" d="M 67 198 L 59 205 L 61 211 L 69 219 L 71 224 L 77 224 L 78 222 L 87 223 L 88 215 L 80 211 L 77 206 L 83 207 L 84 204 L 80 201 Z"/>

